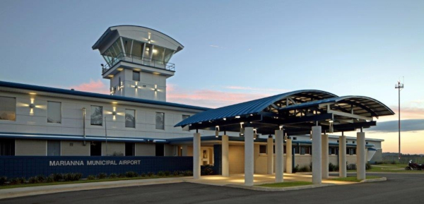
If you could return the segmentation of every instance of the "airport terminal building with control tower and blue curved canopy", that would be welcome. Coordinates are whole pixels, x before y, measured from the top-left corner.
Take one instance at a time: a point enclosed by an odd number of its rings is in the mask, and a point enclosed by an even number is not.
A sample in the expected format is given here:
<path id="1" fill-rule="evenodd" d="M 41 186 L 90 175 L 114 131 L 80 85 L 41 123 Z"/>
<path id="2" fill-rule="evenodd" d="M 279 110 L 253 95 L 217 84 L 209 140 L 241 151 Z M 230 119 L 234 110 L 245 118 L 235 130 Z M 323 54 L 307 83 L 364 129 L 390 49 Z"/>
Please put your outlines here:
<path id="1" fill-rule="evenodd" d="M 218 109 L 166 102 L 166 81 L 176 71 L 170 60 L 184 49 L 182 44 L 157 30 L 120 25 L 107 28 L 92 48 L 105 59 L 100 71 L 110 80 L 110 95 L 0 81 L 0 174 L 75 172 L 82 167 L 54 169 L 52 160 L 59 166 L 65 161 L 61 166 L 66 166 L 66 160 L 126 157 L 141 162 L 110 172 L 180 168 L 196 173 L 198 164 L 211 164 L 217 174 L 243 174 L 250 128 L 253 173 L 273 174 L 281 167 L 291 172 L 295 165 L 312 163 L 314 125 L 326 138 L 326 164 L 357 164 L 361 141 L 332 133 L 362 132 L 376 125 L 373 118 L 394 114 L 369 97 L 338 97 L 321 90 L 287 92 Z M 283 133 L 283 148 L 276 146 L 276 130 Z M 364 141 L 361 157 L 381 161 L 383 140 Z M 31 169 L 20 158 L 42 162 Z M 278 160 L 285 165 L 274 167 Z M 145 167 L 149 165 L 157 167 Z M 107 172 L 98 167 L 87 171 Z"/>

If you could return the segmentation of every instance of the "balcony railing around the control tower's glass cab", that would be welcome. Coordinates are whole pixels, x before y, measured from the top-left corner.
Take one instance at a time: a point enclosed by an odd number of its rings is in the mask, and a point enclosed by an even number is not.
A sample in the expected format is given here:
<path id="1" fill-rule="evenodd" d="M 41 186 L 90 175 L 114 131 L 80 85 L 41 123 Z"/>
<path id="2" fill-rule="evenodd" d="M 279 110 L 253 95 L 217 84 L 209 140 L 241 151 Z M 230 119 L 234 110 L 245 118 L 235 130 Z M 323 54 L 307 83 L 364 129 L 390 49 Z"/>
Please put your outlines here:
<path id="1" fill-rule="evenodd" d="M 117 56 L 115 56 L 112 61 L 110 61 L 110 63 L 102 66 L 102 73 L 106 73 L 107 71 L 109 71 L 110 68 L 118 64 L 119 61 L 128 61 L 134 64 L 153 66 L 155 68 L 162 68 L 167 71 L 175 71 L 175 64 L 121 52 Z"/>

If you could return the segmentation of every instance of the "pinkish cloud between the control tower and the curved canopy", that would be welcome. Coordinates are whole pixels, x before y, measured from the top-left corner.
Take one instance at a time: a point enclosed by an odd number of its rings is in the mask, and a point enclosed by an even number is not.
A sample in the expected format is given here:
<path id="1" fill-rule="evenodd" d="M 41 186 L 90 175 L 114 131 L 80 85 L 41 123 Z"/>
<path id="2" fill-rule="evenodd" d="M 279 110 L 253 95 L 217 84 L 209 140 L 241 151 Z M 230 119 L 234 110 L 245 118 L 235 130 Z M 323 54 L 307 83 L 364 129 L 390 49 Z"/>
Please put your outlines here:
<path id="1" fill-rule="evenodd" d="M 223 107 L 272 95 L 270 92 L 230 92 L 227 90 L 182 90 L 176 85 L 167 85 L 167 101 L 202 107 Z"/>

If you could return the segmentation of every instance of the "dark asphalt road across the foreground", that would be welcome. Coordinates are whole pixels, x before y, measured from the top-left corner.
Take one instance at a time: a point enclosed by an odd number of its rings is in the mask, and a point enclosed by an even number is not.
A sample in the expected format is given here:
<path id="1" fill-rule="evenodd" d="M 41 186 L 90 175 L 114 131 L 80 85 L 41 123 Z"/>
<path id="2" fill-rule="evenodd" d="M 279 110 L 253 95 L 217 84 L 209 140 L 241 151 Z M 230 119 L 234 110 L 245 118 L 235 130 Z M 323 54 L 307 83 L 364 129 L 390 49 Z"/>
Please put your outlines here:
<path id="1" fill-rule="evenodd" d="M 373 174 L 374 175 L 374 174 Z M 378 174 L 387 181 L 263 192 L 179 183 L 74 191 L 0 200 L 0 203 L 423 203 L 424 174 Z"/>

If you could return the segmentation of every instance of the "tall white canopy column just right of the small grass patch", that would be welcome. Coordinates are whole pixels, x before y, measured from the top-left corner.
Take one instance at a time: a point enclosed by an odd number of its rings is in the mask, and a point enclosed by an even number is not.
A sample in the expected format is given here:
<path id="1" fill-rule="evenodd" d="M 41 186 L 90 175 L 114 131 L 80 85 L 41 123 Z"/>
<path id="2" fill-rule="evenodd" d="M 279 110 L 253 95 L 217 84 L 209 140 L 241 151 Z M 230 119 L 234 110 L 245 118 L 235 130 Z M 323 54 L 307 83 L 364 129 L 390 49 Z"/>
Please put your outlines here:
<path id="1" fill-rule="evenodd" d="M 321 184 L 321 126 L 312 126 L 312 184 Z"/>

